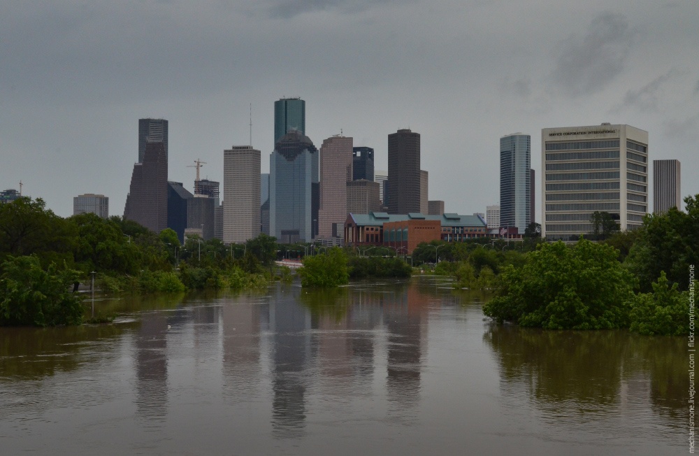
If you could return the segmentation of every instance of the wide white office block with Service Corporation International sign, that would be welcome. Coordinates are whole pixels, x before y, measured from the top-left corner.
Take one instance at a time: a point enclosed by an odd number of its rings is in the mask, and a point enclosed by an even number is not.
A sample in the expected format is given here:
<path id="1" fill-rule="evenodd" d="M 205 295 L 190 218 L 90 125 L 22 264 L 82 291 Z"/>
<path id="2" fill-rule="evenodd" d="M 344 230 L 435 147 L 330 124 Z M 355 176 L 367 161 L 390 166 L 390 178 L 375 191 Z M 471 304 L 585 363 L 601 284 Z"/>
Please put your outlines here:
<path id="1" fill-rule="evenodd" d="M 642 224 L 648 208 L 648 132 L 630 125 L 541 131 L 542 222 L 547 239 L 575 240 L 593 231 L 595 211 L 621 229 Z"/>

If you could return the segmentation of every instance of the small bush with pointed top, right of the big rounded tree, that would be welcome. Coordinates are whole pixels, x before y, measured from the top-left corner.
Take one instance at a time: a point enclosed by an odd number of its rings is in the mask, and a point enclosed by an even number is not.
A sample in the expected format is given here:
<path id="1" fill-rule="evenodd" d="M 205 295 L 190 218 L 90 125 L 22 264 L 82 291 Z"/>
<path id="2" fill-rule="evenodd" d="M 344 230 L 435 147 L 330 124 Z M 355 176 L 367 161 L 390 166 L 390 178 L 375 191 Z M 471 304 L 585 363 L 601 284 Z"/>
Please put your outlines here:
<path id="1" fill-rule="evenodd" d="M 631 332 L 652 336 L 689 335 L 689 294 L 677 283 L 668 286 L 665 272 L 653 283 L 652 293 L 637 294 L 631 303 Z"/>

